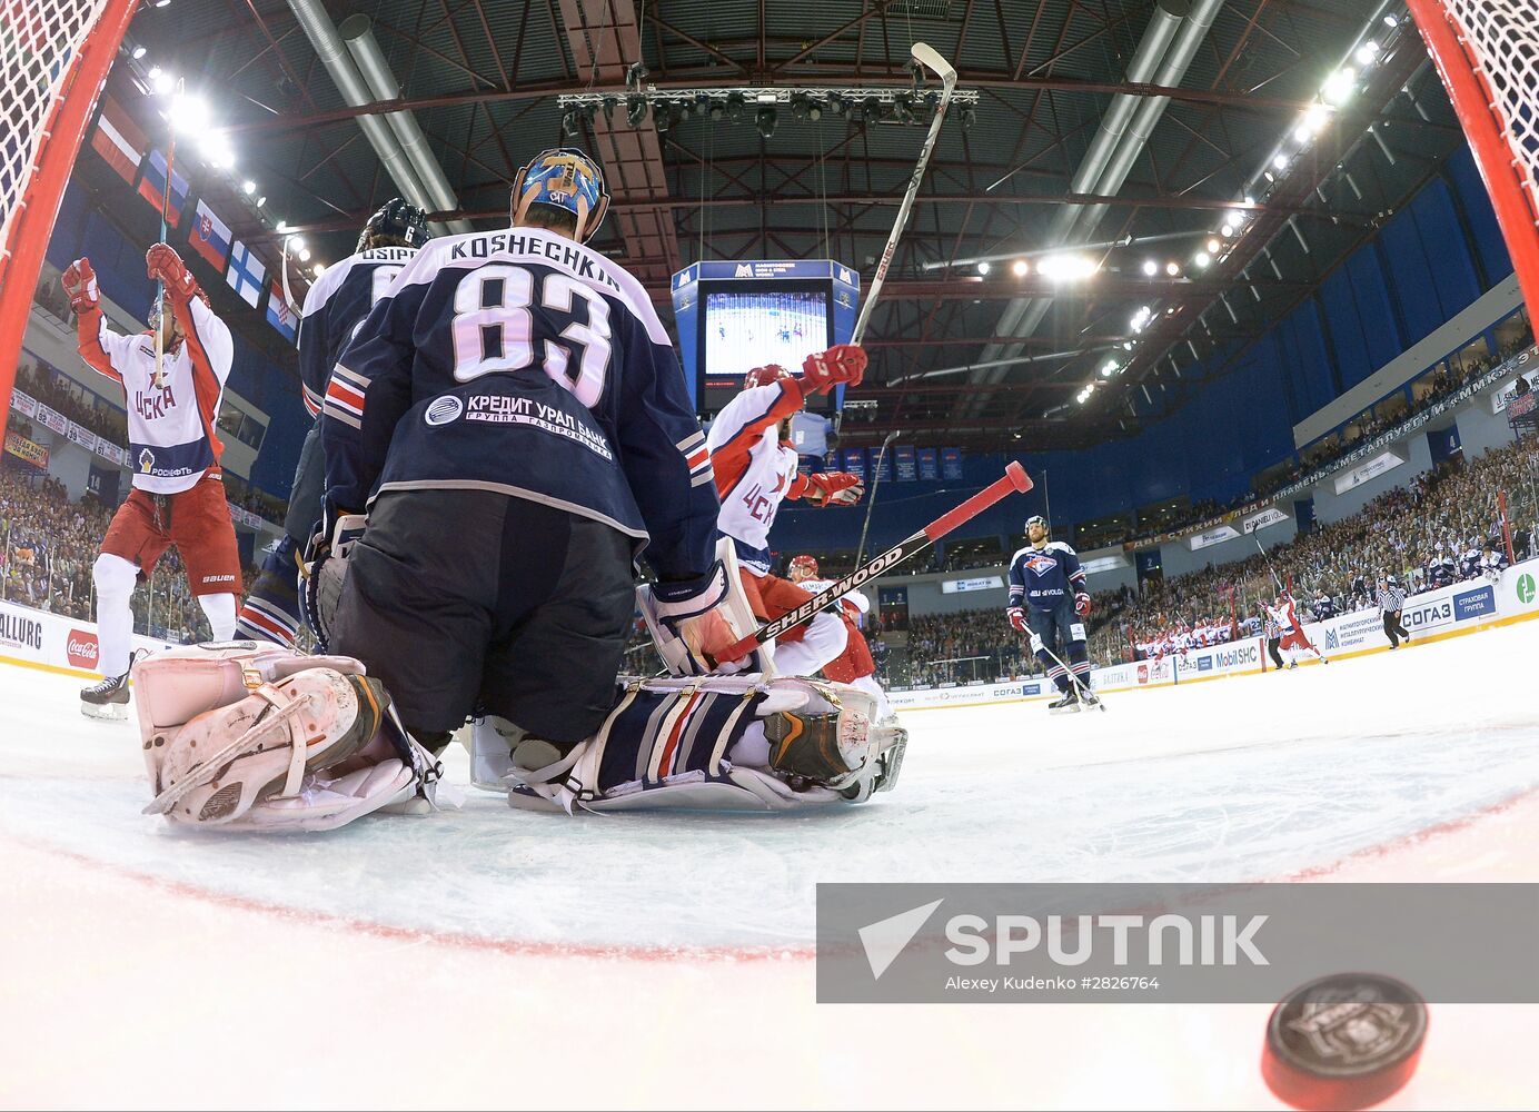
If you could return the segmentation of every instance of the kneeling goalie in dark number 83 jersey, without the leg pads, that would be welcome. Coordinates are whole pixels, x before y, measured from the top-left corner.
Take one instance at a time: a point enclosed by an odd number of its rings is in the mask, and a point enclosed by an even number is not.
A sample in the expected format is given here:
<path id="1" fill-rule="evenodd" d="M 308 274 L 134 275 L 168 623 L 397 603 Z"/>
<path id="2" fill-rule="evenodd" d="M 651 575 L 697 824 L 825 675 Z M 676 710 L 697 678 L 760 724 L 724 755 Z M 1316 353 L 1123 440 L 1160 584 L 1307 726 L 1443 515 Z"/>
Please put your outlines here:
<path id="1" fill-rule="evenodd" d="M 317 634 L 436 752 L 471 715 L 557 746 L 594 734 L 637 557 L 697 671 L 737 641 L 679 360 L 642 285 L 583 246 L 608 203 L 591 158 L 542 152 L 514 180 L 512 228 L 428 243 L 331 374 Z"/>

